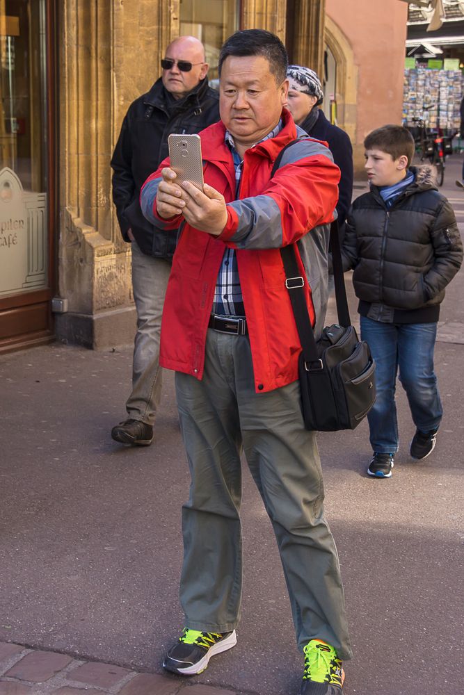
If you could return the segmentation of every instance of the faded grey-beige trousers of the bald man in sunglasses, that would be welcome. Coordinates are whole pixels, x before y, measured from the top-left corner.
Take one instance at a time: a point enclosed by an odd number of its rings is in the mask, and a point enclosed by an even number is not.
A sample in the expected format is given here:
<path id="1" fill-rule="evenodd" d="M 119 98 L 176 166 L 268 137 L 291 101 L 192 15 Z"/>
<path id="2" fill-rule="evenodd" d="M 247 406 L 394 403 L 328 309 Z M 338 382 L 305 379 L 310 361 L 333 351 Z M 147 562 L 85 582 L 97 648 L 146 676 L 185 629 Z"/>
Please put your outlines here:
<path id="1" fill-rule="evenodd" d="M 163 370 L 159 366 L 159 341 L 164 297 L 171 263 L 147 256 L 135 241 L 132 250 L 132 288 L 137 311 L 132 391 L 126 402 L 129 418 L 153 425 L 161 400 Z"/>

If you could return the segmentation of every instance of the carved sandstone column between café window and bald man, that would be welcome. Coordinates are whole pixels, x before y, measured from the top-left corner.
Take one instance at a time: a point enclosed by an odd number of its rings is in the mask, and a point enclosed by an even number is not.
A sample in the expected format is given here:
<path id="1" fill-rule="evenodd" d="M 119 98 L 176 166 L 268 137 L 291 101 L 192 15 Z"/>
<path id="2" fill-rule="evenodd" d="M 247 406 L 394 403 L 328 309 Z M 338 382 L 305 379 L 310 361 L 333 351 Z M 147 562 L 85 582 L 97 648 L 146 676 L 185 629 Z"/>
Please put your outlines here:
<path id="1" fill-rule="evenodd" d="M 111 201 L 110 160 L 131 101 L 159 77 L 179 0 L 61 0 L 58 338 L 87 347 L 135 334 L 130 247 Z"/>

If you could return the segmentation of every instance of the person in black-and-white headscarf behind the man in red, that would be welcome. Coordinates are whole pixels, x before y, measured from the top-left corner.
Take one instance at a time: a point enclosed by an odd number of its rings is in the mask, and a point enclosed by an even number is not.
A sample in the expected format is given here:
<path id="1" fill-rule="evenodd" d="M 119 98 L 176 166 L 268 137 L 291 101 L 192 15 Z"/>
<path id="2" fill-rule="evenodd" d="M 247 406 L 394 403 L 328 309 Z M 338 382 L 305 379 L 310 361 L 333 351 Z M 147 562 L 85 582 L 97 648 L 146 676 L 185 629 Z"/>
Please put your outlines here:
<path id="1" fill-rule="evenodd" d="M 342 239 L 346 213 L 351 205 L 353 194 L 353 147 L 351 147 L 350 138 L 341 128 L 331 124 L 323 111 L 317 108 L 322 103 L 323 91 L 321 81 L 314 70 L 303 65 L 289 65 L 287 78 L 290 83 L 287 108 L 294 117 L 295 123 L 312 138 L 328 142 L 333 161 L 342 172 L 337 203 Z"/>

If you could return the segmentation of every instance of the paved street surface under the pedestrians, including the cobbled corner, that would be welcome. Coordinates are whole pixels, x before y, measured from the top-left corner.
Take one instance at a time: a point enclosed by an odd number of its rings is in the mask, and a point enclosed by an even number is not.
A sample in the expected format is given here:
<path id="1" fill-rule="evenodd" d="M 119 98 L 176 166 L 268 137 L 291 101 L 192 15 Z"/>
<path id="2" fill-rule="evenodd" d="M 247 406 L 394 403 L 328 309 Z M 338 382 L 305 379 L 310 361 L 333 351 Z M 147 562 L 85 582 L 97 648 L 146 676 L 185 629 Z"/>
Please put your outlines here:
<path id="1" fill-rule="evenodd" d="M 461 162 L 449 159 L 443 190 L 464 229 Z M 431 457 L 408 455 L 414 427 L 401 387 L 391 480 L 365 475 L 367 423 L 319 434 L 355 651 L 345 695 L 463 692 L 463 293 L 460 272 L 440 317 L 445 417 Z M 352 291 L 351 306 L 355 318 Z M 238 644 L 191 680 L 162 674 L 182 628 L 189 481 L 172 373 L 154 444 L 111 440 L 130 372 L 129 347 L 55 343 L 0 357 L 0 695 L 297 695 L 302 660 L 285 581 L 246 466 Z"/>

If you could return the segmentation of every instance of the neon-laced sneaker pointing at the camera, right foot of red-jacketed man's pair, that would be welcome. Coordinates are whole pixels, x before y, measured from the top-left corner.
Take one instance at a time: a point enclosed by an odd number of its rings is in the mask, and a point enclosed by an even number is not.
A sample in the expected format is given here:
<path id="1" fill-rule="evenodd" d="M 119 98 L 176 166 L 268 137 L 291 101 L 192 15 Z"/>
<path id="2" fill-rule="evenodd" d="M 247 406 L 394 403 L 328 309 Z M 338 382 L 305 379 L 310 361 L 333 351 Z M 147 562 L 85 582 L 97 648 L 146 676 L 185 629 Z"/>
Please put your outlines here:
<path id="1" fill-rule="evenodd" d="M 312 639 L 303 651 L 305 672 L 300 695 L 342 695 L 345 673 L 333 646 Z"/>

